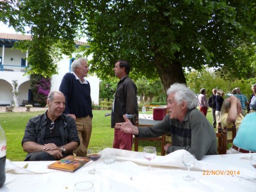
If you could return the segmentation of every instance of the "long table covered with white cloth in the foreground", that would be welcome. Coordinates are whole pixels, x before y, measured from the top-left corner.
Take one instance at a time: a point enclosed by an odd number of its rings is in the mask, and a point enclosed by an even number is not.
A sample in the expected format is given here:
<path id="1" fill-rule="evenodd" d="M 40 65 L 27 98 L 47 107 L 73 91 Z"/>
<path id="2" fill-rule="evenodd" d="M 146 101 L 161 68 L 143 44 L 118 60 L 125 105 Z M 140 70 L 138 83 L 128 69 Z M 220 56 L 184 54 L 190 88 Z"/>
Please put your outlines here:
<path id="1" fill-rule="evenodd" d="M 93 162 L 69 173 L 47 169 L 53 161 L 6 161 L 8 172 L 0 191 L 73 191 L 74 184 L 83 180 L 92 180 L 95 191 L 256 191 L 256 169 L 248 161 L 251 154 L 205 156 L 191 169 L 194 181 L 182 179 L 187 173 L 183 154 L 189 152 L 157 156 L 150 171 L 141 152 L 116 150 L 114 164 L 104 164 L 102 159 L 96 162 L 97 175 L 88 173 Z M 21 168 L 27 163 L 28 168 Z"/>

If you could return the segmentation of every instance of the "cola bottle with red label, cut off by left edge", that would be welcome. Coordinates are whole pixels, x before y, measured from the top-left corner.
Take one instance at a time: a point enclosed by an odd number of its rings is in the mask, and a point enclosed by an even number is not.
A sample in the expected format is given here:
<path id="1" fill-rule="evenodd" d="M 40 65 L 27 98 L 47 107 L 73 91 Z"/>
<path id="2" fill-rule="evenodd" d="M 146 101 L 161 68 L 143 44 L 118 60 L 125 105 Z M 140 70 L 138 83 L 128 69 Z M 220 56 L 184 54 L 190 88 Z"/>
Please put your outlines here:
<path id="1" fill-rule="evenodd" d="M 6 137 L 0 125 L 0 188 L 5 182 Z"/>

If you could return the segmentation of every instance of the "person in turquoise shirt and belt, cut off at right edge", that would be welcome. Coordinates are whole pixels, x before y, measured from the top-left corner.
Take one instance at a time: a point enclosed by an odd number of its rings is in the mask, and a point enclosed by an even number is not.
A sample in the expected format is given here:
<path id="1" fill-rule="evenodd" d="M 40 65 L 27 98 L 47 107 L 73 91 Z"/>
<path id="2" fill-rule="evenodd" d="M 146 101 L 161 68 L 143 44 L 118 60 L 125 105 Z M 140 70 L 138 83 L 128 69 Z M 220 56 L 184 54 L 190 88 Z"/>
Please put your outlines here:
<path id="1" fill-rule="evenodd" d="M 256 152 L 256 113 L 244 116 L 239 130 L 234 138 L 233 145 L 227 154 Z"/>

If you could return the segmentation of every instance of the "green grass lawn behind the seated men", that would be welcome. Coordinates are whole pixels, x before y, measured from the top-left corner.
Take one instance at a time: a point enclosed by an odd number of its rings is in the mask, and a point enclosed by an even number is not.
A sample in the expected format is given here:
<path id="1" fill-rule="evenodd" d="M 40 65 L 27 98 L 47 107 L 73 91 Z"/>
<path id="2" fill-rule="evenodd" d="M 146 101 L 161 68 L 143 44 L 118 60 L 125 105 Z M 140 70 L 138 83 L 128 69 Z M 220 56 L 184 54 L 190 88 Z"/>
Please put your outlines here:
<path id="1" fill-rule="evenodd" d="M 7 158 L 11 161 L 23 161 L 26 152 L 22 150 L 21 141 L 24 136 L 24 129 L 29 118 L 39 115 L 44 111 L 0 113 L 0 125 L 3 127 L 7 138 Z M 114 129 L 111 129 L 111 116 L 104 116 L 110 113 L 109 110 L 93 110 L 93 130 L 89 147 L 112 147 Z M 152 114 L 152 111 L 147 111 Z M 207 113 L 207 119 L 212 122 L 211 109 Z M 170 138 L 168 138 L 170 140 Z M 161 143 L 157 141 L 139 141 L 139 151 L 145 146 L 157 148 L 157 154 L 161 155 Z"/>

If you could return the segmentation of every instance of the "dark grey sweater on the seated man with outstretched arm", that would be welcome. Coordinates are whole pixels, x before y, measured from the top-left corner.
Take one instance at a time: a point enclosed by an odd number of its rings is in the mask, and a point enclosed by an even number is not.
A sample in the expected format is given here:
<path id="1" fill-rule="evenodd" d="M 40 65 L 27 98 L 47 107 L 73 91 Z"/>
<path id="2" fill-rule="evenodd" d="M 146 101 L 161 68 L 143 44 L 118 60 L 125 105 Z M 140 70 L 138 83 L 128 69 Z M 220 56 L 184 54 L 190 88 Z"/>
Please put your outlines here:
<path id="1" fill-rule="evenodd" d="M 191 109 L 186 113 L 182 122 L 170 119 L 168 115 L 152 127 L 138 127 L 141 138 L 153 138 L 170 132 L 172 134 L 172 146 L 168 147 L 168 153 L 175 150 L 188 150 L 200 160 L 205 155 L 217 154 L 216 134 L 207 118 L 198 110 Z"/>

